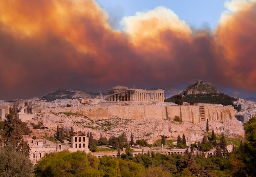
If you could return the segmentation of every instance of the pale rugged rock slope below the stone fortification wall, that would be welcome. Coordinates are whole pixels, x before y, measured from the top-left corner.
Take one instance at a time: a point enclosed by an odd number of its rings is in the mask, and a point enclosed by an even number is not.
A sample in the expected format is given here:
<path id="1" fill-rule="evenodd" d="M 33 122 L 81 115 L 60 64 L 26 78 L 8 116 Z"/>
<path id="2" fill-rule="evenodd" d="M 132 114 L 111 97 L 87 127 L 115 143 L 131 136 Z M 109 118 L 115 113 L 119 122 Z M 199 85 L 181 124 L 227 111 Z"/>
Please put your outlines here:
<path id="1" fill-rule="evenodd" d="M 177 136 L 182 136 L 183 133 L 186 136 L 187 142 L 193 143 L 202 140 L 206 132 L 206 121 L 193 124 L 191 122 L 180 123 L 154 117 L 144 117 L 143 119 L 122 119 L 117 117 L 92 120 L 74 113 L 42 113 L 27 122 L 35 124 L 41 122 L 44 126 L 52 128 L 54 131 L 56 131 L 57 125 L 63 127 L 66 131 L 69 131 L 71 126 L 73 126 L 75 132 L 85 134 L 92 132 L 96 139 L 99 139 L 101 135 L 110 138 L 112 136 L 119 136 L 124 132 L 128 140 L 130 140 L 130 134 L 132 133 L 135 141 L 137 139 L 144 139 L 149 144 L 153 144 L 157 139 L 161 139 L 160 135 L 164 135 L 168 139 L 177 140 Z M 236 119 L 211 120 L 209 121 L 209 132 L 212 129 L 217 134 L 229 132 L 230 134 L 244 136 L 243 126 Z"/>

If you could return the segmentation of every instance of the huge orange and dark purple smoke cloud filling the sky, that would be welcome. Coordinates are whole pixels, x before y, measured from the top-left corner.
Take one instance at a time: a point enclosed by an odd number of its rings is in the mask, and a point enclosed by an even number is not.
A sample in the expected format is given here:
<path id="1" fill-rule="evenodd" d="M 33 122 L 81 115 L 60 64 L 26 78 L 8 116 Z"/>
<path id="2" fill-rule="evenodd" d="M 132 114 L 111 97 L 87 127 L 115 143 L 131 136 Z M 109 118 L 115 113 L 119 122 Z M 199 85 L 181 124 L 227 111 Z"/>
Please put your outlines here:
<path id="1" fill-rule="evenodd" d="M 198 79 L 256 91 L 256 2 L 225 6 L 213 32 L 166 7 L 126 17 L 117 31 L 94 0 L 2 0 L 0 100 Z"/>

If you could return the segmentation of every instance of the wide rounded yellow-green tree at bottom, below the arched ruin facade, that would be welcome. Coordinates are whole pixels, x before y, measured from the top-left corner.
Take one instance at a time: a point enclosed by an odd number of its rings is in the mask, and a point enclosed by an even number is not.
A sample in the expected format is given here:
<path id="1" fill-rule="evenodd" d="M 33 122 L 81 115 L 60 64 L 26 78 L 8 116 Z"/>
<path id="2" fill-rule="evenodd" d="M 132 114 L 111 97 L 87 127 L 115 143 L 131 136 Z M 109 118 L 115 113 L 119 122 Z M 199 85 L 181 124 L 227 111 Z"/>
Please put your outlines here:
<path id="1" fill-rule="evenodd" d="M 38 162 L 35 167 L 36 177 L 53 176 L 103 176 L 99 173 L 99 160 L 97 157 L 76 151 L 70 153 L 66 150 L 59 153 L 49 153 Z"/>

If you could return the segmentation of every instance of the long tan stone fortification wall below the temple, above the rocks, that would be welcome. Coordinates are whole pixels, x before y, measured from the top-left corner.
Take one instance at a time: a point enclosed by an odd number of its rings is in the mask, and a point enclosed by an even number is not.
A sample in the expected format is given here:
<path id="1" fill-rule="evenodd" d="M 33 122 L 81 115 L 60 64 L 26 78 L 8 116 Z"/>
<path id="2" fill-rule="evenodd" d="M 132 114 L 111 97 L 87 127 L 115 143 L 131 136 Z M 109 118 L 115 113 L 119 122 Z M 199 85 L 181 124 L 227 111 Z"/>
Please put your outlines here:
<path id="1" fill-rule="evenodd" d="M 142 120 L 143 117 L 155 117 L 173 120 L 179 116 L 183 122 L 198 123 L 208 120 L 224 121 L 234 119 L 234 107 L 224 106 L 162 106 L 162 105 L 130 105 L 130 106 L 84 106 L 81 108 L 51 108 L 46 112 L 78 113 L 90 119 L 123 118 Z"/>

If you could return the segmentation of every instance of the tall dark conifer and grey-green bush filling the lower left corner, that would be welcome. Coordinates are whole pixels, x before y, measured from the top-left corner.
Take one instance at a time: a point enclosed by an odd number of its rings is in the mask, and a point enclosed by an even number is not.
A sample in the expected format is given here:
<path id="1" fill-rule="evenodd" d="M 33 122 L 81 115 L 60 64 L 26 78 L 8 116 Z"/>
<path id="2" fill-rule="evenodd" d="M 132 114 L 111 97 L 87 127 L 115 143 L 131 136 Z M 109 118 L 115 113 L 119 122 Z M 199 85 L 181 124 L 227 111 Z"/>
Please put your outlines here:
<path id="1" fill-rule="evenodd" d="M 19 110 L 18 110 L 19 111 Z M 0 177 L 29 177 L 34 166 L 29 159 L 30 148 L 22 135 L 27 134 L 27 124 L 21 122 L 15 108 L 9 109 L 2 124 L 0 138 Z"/>

